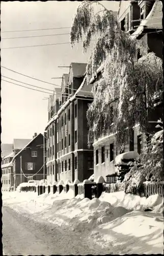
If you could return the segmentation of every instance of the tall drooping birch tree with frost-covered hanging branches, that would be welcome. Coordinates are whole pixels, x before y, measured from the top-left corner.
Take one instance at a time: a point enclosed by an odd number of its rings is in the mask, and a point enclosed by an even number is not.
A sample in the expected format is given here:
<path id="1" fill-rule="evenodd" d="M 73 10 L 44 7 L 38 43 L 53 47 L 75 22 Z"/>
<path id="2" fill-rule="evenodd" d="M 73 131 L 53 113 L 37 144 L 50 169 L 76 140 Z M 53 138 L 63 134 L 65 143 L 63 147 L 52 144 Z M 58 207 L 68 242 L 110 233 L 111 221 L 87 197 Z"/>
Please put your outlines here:
<path id="1" fill-rule="evenodd" d="M 94 5 L 100 7 L 96 13 Z M 102 78 L 94 83 L 96 94 L 87 112 L 89 145 L 93 134 L 97 139 L 107 132 L 117 132 L 117 144 L 122 145 L 136 123 L 147 133 L 147 110 L 153 107 L 154 94 L 157 91 L 162 94 L 161 59 L 154 53 L 147 54 L 144 45 L 121 30 L 114 12 L 97 1 L 83 1 L 77 7 L 70 32 L 72 47 L 80 40 L 84 51 L 94 40 L 87 65 L 88 83 L 97 68 L 103 66 Z M 143 57 L 136 61 L 138 50 Z M 117 106 L 116 101 L 119 101 Z"/>

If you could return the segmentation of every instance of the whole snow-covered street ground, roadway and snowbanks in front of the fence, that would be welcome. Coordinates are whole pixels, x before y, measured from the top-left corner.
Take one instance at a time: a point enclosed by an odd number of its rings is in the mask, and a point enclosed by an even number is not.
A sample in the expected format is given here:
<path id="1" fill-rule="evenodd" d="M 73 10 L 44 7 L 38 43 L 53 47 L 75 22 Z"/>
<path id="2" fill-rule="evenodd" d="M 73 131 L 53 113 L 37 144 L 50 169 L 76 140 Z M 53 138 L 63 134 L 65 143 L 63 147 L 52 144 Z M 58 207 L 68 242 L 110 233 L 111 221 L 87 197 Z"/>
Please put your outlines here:
<path id="1" fill-rule="evenodd" d="M 40 196 L 4 193 L 4 253 L 162 253 L 162 211 L 163 199 L 158 195 L 146 199 L 121 191 L 90 200 L 73 198 L 71 191 Z"/>

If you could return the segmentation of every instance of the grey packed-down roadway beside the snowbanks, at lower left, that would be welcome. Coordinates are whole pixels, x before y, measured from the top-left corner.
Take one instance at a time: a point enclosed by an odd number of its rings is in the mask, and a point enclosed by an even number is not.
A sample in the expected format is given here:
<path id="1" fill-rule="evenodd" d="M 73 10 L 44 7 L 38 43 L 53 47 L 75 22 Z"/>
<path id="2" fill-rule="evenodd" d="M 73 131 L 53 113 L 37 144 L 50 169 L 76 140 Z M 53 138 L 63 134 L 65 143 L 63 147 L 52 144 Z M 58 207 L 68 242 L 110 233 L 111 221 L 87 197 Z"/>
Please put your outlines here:
<path id="1" fill-rule="evenodd" d="M 18 214 L 3 207 L 3 249 L 6 255 L 86 255 L 100 254 L 100 246 L 92 247 L 86 233 L 66 226 L 37 221 L 30 215 Z"/>

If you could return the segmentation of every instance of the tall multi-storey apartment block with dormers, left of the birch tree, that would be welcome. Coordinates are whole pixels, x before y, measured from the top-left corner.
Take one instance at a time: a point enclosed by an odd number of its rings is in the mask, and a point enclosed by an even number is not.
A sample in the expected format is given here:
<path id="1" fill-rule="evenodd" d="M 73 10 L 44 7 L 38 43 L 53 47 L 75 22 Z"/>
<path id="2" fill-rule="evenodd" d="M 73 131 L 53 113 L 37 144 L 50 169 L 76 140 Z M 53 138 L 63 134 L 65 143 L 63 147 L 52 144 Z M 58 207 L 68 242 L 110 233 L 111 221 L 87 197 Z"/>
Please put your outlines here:
<path id="1" fill-rule="evenodd" d="M 86 63 L 71 63 L 62 87 L 49 98 L 47 180 L 83 181 L 93 174 L 93 148 L 88 148 L 86 113 L 93 101 L 87 85 Z"/>

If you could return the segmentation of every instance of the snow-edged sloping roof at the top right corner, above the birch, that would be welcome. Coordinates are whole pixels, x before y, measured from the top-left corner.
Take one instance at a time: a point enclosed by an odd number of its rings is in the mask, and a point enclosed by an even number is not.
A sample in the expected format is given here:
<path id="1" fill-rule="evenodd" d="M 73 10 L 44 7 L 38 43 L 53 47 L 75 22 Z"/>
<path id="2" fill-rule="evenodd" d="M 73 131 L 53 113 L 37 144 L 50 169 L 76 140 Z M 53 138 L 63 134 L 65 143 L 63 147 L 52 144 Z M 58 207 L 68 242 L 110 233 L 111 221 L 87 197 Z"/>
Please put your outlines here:
<path id="1" fill-rule="evenodd" d="M 151 11 L 147 17 L 142 20 L 140 26 L 136 31 L 131 34 L 131 38 L 134 39 L 142 34 L 144 28 L 162 29 L 162 2 L 155 1 Z"/>

